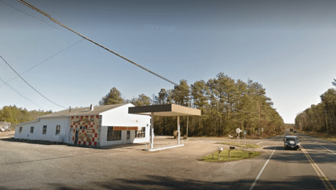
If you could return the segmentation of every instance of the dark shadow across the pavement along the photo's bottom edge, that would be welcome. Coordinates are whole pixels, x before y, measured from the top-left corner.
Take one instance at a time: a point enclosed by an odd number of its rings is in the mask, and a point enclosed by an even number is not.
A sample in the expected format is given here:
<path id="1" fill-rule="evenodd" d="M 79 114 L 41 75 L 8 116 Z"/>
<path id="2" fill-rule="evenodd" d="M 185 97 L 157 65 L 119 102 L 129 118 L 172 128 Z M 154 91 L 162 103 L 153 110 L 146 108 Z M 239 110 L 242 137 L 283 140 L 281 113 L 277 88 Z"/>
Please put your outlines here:
<path id="1" fill-rule="evenodd" d="M 325 189 L 317 176 L 304 175 L 290 177 L 281 181 L 258 180 L 253 189 Z M 250 189 L 254 179 L 236 180 L 231 182 L 203 182 L 194 179 L 177 179 L 147 175 L 145 179 L 110 179 L 109 182 L 88 182 L 81 186 L 52 183 L 48 189 Z M 335 184 L 335 181 L 330 181 Z M 0 189 L 7 189 L 0 186 Z"/>

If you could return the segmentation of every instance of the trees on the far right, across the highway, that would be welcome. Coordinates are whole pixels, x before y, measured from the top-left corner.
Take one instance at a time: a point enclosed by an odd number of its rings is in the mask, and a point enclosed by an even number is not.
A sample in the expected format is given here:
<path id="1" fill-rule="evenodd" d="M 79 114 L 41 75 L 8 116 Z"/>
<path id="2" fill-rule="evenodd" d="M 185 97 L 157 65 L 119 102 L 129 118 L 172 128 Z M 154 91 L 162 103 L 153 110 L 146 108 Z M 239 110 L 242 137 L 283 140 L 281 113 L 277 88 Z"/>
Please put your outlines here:
<path id="1" fill-rule="evenodd" d="M 332 81 L 336 87 L 336 79 Z M 336 134 L 336 89 L 329 88 L 320 95 L 321 102 L 305 109 L 295 117 L 295 128 L 305 131 Z"/>

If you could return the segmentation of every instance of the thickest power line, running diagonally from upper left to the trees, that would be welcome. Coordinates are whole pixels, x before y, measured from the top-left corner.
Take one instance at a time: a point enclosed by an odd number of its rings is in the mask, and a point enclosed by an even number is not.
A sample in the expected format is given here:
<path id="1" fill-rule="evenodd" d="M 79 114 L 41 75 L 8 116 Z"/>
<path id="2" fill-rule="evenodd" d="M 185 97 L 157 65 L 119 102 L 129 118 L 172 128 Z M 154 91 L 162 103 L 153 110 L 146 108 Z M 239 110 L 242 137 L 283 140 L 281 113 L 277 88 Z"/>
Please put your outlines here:
<path id="1" fill-rule="evenodd" d="M 155 76 L 158 76 L 159 78 L 161 78 L 161 79 L 163 79 L 163 80 L 165 80 L 165 81 L 168 81 L 168 83 L 172 83 L 174 86 L 180 86 L 179 84 L 177 84 L 177 83 L 175 83 L 175 82 L 173 82 L 173 81 L 170 81 L 169 79 L 167 79 L 167 78 L 165 78 L 165 77 L 163 77 L 163 76 L 161 76 L 161 75 L 159 75 L 159 74 L 156 74 L 155 72 L 152 72 L 151 70 L 149 70 L 149 69 L 147 69 L 147 68 L 145 68 L 145 67 L 142 67 L 141 65 L 137 64 L 136 62 L 133 62 L 132 60 L 129 60 L 128 58 L 123 57 L 122 55 L 119 55 L 119 53 L 116 53 L 116 52 L 114 52 L 113 50 L 110 50 L 109 48 L 106 48 L 105 46 L 102 46 L 100 43 L 97 43 L 97 42 L 95 42 L 95 41 L 93 41 L 93 40 L 91 40 L 91 39 L 88 39 L 88 37 L 86 37 L 86 36 L 84 36 L 84 35 L 82 35 L 82 34 L 79 34 L 78 32 L 74 31 L 73 29 L 70 29 L 69 27 L 63 25 L 62 23 L 60 23 L 60 22 L 58 22 L 57 20 L 53 19 L 53 18 L 51 17 L 51 15 L 48 15 L 47 13 L 44 13 L 43 11 L 39 10 L 39 8 L 36 8 L 35 6 L 32 6 L 31 4 L 27 3 L 26 1 L 24 1 L 24 0 L 18 0 L 18 1 L 19 1 L 20 3 L 22 3 L 22 4 L 24 4 L 25 6 L 28 6 L 29 8 L 32 8 L 34 11 L 37 11 L 38 13 L 41 13 L 42 15 L 45 15 L 45 16 L 48 17 L 51 21 L 57 23 L 58 25 L 60 25 L 60 26 L 62 26 L 62 27 L 65 27 L 66 29 L 69 29 L 71 32 L 74 32 L 75 34 L 77 34 L 77 35 L 83 37 L 83 39 L 86 39 L 86 40 L 88 40 L 88 41 L 90 41 L 90 42 L 92 42 L 92 43 L 95 43 L 95 45 L 100 46 L 100 48 L 104 48 L 105 50 L 109 51 L 110 53 L 113 53 L 114 55 L 116 55 L 116 56 L 118 56 L 118 57 L 121 57 L 123 60 L 126 60 L 126 61 L 132 63 L 133 65 L 135 65 L 135 66 L 137 66 L 137 67 L 140 67 L 141 69 L 144 69 L 146 72 L 149 72 L 149 73 L 151 73 L 151 74 L 154 74 Z M 184 88 L 184 86 L 180 86 L 180 87 L 181 87 L 181 88 Z M 190 90 L 189 90 L 188 88 L 184 88 L 184 89 L 186 89 L 186 90 L 188 90 L 188 91 L 190 92 Z M 198 93 L 198 94 L 201 95 L 200 93 Z M 203 96 L 203 95 L 202 95 L 202 96 Z M 210 99 L 210 98 L 208 98 L 208 97 L 206 97 L 206 98 L 207 98 L 208 100 L 213 100 L 213 99 Z M 218 101 L 218 100 L 213 100 L 213 101 L 222 104 L 222 102 L 220 102 L 220 101 Z M 229 106 L 227 106 L 227 105 L 225 105 L 225 104 L 222 104 L 222 105 L 224 105 L 224 107 L 229 107 Z M 236 110 L 236 111 L 241 111 L 241 112 L 243 112 L 243 113 L 257 113 L 257 112 L 243 111 L 243 110 L 240 110 L 240 109 L 236 109 L 236 108 L 234 108 L 234 107 L 229 107 L 229 108 L 234 109 L 234 110 Z"/>

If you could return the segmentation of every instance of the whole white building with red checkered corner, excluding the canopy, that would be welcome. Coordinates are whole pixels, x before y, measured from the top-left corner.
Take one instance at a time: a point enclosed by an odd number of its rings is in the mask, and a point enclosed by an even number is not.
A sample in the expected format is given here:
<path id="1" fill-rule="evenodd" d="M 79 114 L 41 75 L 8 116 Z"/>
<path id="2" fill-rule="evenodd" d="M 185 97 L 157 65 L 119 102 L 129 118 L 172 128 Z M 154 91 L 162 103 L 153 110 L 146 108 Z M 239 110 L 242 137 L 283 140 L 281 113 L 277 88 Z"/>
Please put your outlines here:
<path id="1" fill-rule="evenodd" d="M 38 117 L 15 127 L 15 139 L 105 146 L 149 142 L 150 116 L 128 114 L 133 104 L 81 107 Z"/>

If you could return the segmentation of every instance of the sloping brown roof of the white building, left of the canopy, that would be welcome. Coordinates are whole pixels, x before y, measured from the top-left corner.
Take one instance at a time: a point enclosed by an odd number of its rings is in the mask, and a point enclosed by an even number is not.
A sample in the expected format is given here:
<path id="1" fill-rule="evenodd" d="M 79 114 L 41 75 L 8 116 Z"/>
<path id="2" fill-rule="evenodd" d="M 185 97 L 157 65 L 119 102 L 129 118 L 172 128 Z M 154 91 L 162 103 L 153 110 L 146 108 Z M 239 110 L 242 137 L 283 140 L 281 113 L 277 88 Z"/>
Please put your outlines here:
<path id="1" fill-rule="evenodd" d="M 112 104 L 105 106 L 95 106 L 93 110 L 90 110 L 90 107 L 77 107 L 70 109 L 65 109 L 62 111 L 57 111 L 53 114 L 47 114 L 44 116 L 39 116 L 39 118 L 53 118 L 53 117 L 65 117 L 65 116 L 87 116 L 87 115 L 98 115 L 104 111 L 108 111 L 110 109 L 114 109 L 117 107 L 121 107 L 126 104 Z"/>

